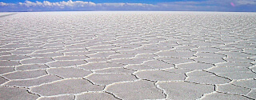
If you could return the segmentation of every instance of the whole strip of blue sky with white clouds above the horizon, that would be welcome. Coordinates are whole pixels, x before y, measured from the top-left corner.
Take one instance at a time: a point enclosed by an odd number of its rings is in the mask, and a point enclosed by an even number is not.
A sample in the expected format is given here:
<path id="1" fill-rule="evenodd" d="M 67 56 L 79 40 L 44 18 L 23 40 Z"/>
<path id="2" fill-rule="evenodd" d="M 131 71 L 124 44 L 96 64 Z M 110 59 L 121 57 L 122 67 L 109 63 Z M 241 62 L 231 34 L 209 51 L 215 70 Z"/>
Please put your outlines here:
<path id="1" fill-rule="evenodd" d="M 67 10 L 256 12 L 256 0 L 0 0 L 0 12 Z"/>

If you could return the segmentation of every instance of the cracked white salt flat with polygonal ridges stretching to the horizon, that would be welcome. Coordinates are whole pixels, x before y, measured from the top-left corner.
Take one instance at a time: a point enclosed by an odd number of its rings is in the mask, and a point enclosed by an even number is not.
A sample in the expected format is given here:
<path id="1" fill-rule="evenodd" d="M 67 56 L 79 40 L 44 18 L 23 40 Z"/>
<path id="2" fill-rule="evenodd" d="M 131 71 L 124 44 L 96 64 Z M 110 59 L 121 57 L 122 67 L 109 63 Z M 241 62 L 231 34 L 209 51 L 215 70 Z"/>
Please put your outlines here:
<path id="1" fill-rule="evenodd" d="M 255 99 L 256 14 L 0 14 L 0 99 Z"/>

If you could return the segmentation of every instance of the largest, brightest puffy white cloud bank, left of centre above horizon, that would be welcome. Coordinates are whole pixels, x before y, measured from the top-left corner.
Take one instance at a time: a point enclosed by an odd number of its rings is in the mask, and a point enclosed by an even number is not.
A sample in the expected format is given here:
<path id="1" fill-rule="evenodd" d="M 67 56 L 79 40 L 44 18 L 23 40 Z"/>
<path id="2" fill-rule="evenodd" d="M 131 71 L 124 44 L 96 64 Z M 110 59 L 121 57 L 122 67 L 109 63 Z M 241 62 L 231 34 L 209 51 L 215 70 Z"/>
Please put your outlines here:
<path id="1" fill-rule="evenodd" d="M 82 8 L 88 8 L 86 10 L 140 10 L 141 8 L 145 7 L 150 7 L 154 6 L 152 4 L 145 4 L 145 3 L 94 3 L 94 2 L 83 2 L 83 1 L 72 1 L 69 0 L 67 2 L 62 1 L 62 2 L 48 2 L 48 1 L 43 1 L 43 2 L 30 2 L 30 1 L 25 1 L 25 2 L 19 2 L 19 6 L 26 6 L 28 8 L 36 8 L 37 7 L 46 7 L 46 8 L 55 8 L 55 10 L 68 10 L 69 8 L 71 10 L 82 10 Z M 130 8 L 129 8 L 130 7 Z M 135 9 L 136 8 L 136 9 Z"/>

